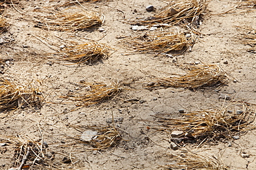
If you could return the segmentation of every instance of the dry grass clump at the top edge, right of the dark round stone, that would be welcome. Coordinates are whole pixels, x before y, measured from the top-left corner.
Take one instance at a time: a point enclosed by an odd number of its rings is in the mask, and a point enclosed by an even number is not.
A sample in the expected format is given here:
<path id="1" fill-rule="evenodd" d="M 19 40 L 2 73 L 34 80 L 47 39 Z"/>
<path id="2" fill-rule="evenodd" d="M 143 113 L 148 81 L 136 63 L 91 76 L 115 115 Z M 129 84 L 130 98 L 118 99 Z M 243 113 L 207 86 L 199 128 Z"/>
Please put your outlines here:
<path id="1" fill-rule="evenodd" d="M 184 20 L 193 23 L 199 20 L 200 15 L 203 14 L 206 8 L 207 1 L 205 0 L 168 1 L 168 5 L 163 7 L 158 14 L 144 21 L 136 21 L 136 23 L 176 24 Z"/>

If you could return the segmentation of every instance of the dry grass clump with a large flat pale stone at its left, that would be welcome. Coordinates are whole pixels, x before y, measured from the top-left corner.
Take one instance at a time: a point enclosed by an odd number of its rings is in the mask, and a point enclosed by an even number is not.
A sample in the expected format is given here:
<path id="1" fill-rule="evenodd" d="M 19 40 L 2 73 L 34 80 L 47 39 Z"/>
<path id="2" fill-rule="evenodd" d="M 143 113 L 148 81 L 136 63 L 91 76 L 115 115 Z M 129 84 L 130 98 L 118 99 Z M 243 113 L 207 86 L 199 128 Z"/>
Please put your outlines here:
<path id="1" fill-rule="evenodd" d="M 122 140 L 122 137 L 119 133 L 119 131 L 114 126 L 104 126 L 104 125 L 95 125 L 95 126 L 82 126 L 77 125 L 73 126 L 75 129 L 77 129 L 80 132 L 83 132 L 84 130 L 93 130 L 97 131 L 97 134 L 91 138 L 91 140 L 80 140 L 80 142 L 88 143 L 91 145 L 90 150 L 100 150 L 100 149 L 107 149 L 109 147 L 114 147 L 115 145 Z"/>

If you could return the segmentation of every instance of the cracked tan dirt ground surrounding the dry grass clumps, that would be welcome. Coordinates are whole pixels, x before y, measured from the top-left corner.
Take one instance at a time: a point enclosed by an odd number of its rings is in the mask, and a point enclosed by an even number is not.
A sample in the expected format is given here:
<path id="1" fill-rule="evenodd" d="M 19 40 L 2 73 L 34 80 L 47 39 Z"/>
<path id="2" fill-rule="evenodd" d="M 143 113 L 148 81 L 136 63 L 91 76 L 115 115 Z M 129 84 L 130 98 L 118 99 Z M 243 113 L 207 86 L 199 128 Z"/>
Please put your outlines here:
<path id="1" fill-rule="evenodd" d="M 230 169 L 256 169 L 255 130 L 248 131 L 237 140 L 219 141 L 214 145 L 205 143 L 201 147 L 191 144 L 174 150 L 170 148 L 170 136 L 152 129 L 147 122 L 155 120 L 152 115 L 176 115 L 179 114 L 179 109 L 194 111 L 219 106 L 223 103 L 221 96 L 226 95 L 235 100 L 256 103 L 255 54 L 248 52 L 249 45 L 235 39 L 240 33 L 237 26 L 255 29 L 255 10 L 235 8 L 239 1 L 209 1 L 203 21 L 197 28 L 202 34 L 192 51 L 168 57 L 139 52 L 133 54 L 132 50 L 123 47 L 122 39 L 119 39 L 136 32 L 124 21 L 150 17 L 165 6 L 165 1 L 84 2 L 81 3 L 84 8 L 104 14 L 104 25 L 83 31 L 64 32 L 35 26 L 33 21 L 39 21 L 45 15 L 45 10 L 66 2 L 68 1 L 13 0 L 4 3 L 2 16 L 10 26 L 0 36 L 3 41 L 0 55 L 1 59 L 6 60 L 2 63 L 2 76 L 11 77 L 17 82 L 39 80 L 42 92 L 47 97 L 41 108 L 26 107 L 1 112 L 1 143 L 8 139 L 14 140 L 17 136 L 37 142 L 44 140 L 48 145 L 45 162 L 34 162 L 31 169 L 164 169 L 161 166 L 172 162 L 171 153 L 179 154 L 185 149 L 203 156 L 215 156 Z M 147 12 L 145 8 L 149 5 L 154 5 L 156 11 Z M 80 4 L 75 6 L 81 7 Z M 228 10 L 231 11 L 221 14 Z M 99 28 L 104 28 L 104 31 L 98 30 Z M 108 59 L 90 65 L 66 65 L 67 61 L 53 60 L 56 51 L 50 47 L 66 45 L 66 41 L 85 39 L 107 44 L 115 50 L 111 51 Z M 49 56 L 52 56 L 51 59 Z M 194 92 L 174 87 L 151 90 L 143 88 L 152 75 L 181 72 L 176 64 L 196 62 L 219 64 L 237 81 L 230 78 L 228 85 L 217 89 L 197 89 Z M 80 81 L 111 83 L 117 80 L 134 84 L 127 86 L 128 90 L 107 102 L 75 109 L 73 103 L 60 103 L 62 99 L 58 98 L 77 92 L 80 87 L 76 83 Z M 136 100 L 126 102 L 129 99 Z M 87 145 L 76 143 L 74 138 L 79 138 L 82 133 L 72 126 L 107 125 L 112 114 L 123 138 L 118 145 L 91 151 L 86 149 Z M 0 151 L 0 169 L 10 169 L 14 162 L 13 145 L 3 146 Z M 71 161 L 65 162 L 69 158 Z"/>

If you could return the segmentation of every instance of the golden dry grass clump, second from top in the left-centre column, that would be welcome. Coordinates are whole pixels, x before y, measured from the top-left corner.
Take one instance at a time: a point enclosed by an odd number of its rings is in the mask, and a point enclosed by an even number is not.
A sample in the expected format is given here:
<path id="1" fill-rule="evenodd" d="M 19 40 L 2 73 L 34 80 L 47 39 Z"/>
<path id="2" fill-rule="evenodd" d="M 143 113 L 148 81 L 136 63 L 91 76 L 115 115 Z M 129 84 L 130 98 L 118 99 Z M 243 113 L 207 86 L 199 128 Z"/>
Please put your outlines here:
<path id="1" fill-rule="evenodd" d="M 62 49 L 62 60 L 76 64 L 93 63 L 99 59 L 107 59 L 109 47 L 98 42 L 88 42 L 77 45 L 68 45 Z"/>

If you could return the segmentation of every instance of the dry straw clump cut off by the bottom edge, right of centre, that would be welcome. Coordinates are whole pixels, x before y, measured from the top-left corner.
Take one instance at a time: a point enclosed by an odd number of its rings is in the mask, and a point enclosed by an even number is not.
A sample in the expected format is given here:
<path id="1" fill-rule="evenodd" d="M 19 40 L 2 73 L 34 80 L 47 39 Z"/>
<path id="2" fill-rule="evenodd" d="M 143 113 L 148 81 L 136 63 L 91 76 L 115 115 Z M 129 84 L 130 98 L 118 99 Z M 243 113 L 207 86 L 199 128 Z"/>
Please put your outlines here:
<path id="1" fill-rule="evenodd" d="M 228 166 L 223 164 L 218 158 L 212 156 L 202 156 L 197 153 L 184 153 L 182 155 L 169 155 L 172 162 L 161 167 L 166 169 L 208 169 L 208 170 L 228 170 Z"/>

